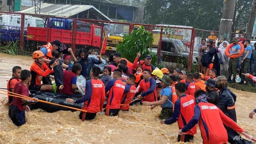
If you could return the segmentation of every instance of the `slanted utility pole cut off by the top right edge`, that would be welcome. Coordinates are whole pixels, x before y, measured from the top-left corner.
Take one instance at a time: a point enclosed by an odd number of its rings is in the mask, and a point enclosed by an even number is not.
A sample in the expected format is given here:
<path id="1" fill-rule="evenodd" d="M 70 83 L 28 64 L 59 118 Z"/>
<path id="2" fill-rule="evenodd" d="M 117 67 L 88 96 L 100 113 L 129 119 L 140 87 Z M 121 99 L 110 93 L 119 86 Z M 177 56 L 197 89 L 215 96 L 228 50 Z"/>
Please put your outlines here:
<path id="1" fill-rule="evenodd" d="M 256 0 L 253 0 L 248 26 L 246 28 L 246 34 L 245 34 L 246 40 L 251 40 L 255 17 L 256 17 Z"/>

